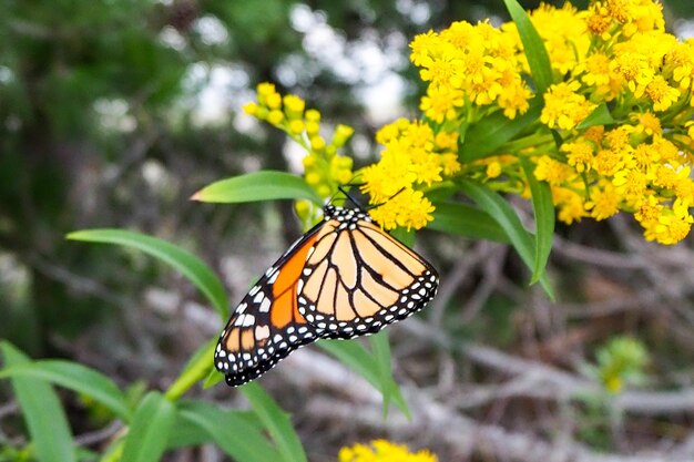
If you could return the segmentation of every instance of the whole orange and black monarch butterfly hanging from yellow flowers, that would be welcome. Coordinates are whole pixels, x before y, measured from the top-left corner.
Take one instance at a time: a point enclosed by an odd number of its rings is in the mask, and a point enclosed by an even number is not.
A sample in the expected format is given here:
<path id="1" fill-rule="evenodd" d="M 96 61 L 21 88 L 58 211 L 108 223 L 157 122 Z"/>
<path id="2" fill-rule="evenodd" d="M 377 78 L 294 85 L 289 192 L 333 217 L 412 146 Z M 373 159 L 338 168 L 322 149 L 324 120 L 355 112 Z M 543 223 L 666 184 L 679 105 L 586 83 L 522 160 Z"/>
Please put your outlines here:
<path id="1" fill-rule="evenodd" d="M 360 209 L 327 205 L 248 291 L 220 336 L 214 362 L 232 387 L 320 338 L 376 332 L 420 310 L 438 275 Z"/>

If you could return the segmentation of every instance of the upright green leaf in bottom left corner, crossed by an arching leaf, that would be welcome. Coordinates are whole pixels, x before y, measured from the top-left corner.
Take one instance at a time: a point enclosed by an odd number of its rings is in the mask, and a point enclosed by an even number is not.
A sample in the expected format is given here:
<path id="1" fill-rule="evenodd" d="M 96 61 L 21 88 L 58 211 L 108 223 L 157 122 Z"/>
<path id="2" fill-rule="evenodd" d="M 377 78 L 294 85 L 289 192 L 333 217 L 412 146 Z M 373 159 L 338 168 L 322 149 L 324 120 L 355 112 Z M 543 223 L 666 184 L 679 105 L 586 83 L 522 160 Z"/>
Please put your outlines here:
<path id="1" fill-rule="evenodd" d="M 0 342 L 8 368 L 30 365 L 31 360 L 10 342 Z M 10 379 L 39 462 L 75 461 L 74 442 L 68 418 L 55 391 L 43 380 L 25 377 Z"/>

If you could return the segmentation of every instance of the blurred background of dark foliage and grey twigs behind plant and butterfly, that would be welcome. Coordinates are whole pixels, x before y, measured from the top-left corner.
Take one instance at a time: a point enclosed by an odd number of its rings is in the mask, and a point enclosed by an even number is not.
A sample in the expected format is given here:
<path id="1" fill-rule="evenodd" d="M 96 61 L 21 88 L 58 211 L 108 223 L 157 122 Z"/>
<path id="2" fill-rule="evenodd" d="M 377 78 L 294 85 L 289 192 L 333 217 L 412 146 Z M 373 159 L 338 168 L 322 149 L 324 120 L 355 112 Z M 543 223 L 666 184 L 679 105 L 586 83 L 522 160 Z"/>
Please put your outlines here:
<path id="1" fill-rule="evenodd" d="M 669 0 L 664 12 L 672 33 L 694 37 L 694 3 Z M 223 320 L 151 258 L 64 235 L 121 227 L 169 239 L 210 263 L 237 301 L 302 232 L 288 202 L 188 199 L 223 177 L 298 172 L 302 152 L 241 112 L 255 85 L 272 81 L 325 122 L 354 126 L 358 167 L 376 158 L 380 125 L 417 116 L 409 40 L 486 18 L 507 21 L 503 2 L 3 0 L 0 337 L 123 387 L 165 387 Z M 418 245 L 441 287 L 390 329 L 411 421 L 384 420 L 379 393 L 315 348 L 262 379 L 312 461 L 372 438 L 441 461 L 694 460 L 691 239 L 646 244 L 619 216 L 560 227 L 557 302 L 528 287 L 506 246 L 433 232 Z M 244 405 L 222 384 L 200 392 Z M 65 399 L 75 434 L 99 427 L 98 410 Z M 1 439 L 12 438 L 10 404 L 1 388 Z M 205 448 L 170 460 L 223 459 Z"/>

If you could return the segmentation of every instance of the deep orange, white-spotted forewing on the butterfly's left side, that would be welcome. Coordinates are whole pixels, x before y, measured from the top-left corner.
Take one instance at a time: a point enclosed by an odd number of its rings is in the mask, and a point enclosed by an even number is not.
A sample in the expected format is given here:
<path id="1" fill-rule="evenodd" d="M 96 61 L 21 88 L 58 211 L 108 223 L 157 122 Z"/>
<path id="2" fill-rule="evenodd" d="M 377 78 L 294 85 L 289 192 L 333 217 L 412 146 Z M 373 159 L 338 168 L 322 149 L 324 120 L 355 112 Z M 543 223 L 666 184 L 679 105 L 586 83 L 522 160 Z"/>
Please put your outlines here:
<path id="1" fill-rule="evenodd" d="M 234 309 L 214 353 L 215 367 L 229 386 L 259 377 L 320 336 L 297 309 L 297 281 L 320 228 L 290 246 Z"/>

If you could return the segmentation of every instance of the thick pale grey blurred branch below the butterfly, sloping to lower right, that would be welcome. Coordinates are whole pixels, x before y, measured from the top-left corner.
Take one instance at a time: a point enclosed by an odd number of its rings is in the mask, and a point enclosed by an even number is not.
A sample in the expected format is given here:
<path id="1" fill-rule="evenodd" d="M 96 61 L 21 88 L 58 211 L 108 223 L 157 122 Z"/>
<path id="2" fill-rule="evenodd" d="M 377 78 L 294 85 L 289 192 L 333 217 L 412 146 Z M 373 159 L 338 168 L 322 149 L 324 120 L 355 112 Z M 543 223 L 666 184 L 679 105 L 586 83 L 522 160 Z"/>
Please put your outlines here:
<path id="1" fill-rule="evenodd" d="M 493 363 L 507 363 L 506 358 L 490 355 L 489 351 L 477 352 L 482 352 Z M 552 444 L 530 433 L 479 423 L 453 411 L 452 402 L 440 402 L 417 387 L 402 388 L 407 401 L 412 403 L 411 421 L 399 413 L 384 419 L 380 394 L 364 379 L 348 372 L 340 362 L 310 350 L 302 350 L 286 361 L 290 367 L 279 370 L 284 370 L 287 382 L 299 389 L 315 389 L 318 384 L 322 389 L 331 390 L 325 396 L 313 394 L 306 403 L 306 412 L 312 417 L 343 422 L 343 425 L 344 422 L 350 422 L 357 428 L 397 435 L 408 441 L 421 440 L 429 446 L 442 443 L 452 448 L 461 459 L 481 453 L 492 460 L 521 462 L 684 462 L 692 456 L 688 454 L 676 459 L 655 451 L 643 455 L 599 454 L 561 437 L 558 437 L 561 444 Z"/>

